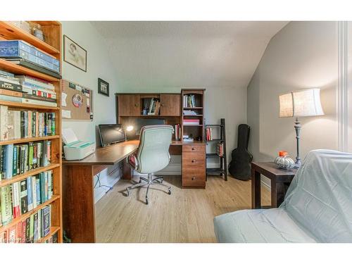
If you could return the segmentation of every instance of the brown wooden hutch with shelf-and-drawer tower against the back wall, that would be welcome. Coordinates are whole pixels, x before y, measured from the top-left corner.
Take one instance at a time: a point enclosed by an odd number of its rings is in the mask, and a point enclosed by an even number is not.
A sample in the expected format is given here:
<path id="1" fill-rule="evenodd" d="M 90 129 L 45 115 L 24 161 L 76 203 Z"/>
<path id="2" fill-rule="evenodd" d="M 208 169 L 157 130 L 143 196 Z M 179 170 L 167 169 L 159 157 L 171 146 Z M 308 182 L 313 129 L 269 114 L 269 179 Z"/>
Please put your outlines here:
<path id="1" fill-rule="evenodd" d="M 180 140 L 172 136 L 170 146 L 171 155 L 182 155 L 182 187 L 206 187 L 206 143 L 204 141 L 204 94 L 205 89 L 181 89 L 180 94 L 168 93 L 123 93 L 116 95 L 116 117 L 119 124 L 124 127 L 134 125 L 137 118 L 162 118 L 165 124 L 175 127 L 181 125 Z M 194 105 L 188 107 L 184 102 L 186 96 L 193 96 Z M 142 115 L 143 108 L 151 98 L 158 99 L 161 103 L 160 112 L 156 115 Z M 184 110 L 196 112 L 196 115 L 184 115 Z M 199 125 L 184 124 L 184 118 L 199 120 Z M 192 134 L 194 142 L 183 141 L 184 134 Z M 129 138 L 137 139 L 134 134 Z M 197 140 L 200 139 L 200 140 Z M 125 166 L 125 179 L 131 177 L 130 168 Z"/>

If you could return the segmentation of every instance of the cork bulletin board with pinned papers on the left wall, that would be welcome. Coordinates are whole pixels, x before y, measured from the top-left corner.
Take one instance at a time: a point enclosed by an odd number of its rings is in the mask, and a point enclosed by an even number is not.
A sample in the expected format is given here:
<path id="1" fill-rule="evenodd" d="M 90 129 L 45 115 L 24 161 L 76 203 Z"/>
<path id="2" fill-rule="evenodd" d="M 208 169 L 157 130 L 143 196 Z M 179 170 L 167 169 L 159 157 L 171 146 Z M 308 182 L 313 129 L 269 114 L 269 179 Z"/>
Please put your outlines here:
<path id="1" fill-rule="evenodd" d="M 80 84 L 62 80 L 61 116 L 64 120 L 93 120 L 93 91 Z"/>

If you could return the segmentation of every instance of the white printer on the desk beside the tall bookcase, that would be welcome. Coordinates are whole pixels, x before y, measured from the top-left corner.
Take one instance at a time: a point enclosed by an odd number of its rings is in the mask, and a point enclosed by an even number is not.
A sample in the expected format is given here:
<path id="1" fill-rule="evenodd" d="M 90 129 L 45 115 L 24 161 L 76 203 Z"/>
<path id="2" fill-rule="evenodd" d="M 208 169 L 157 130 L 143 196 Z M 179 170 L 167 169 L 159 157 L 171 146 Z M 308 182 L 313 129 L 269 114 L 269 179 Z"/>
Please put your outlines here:
<path id="1" fill-rule="evenodd" d="M 77 139 L 71 128 L 63 129 L 63 152 L 66 161 L 82 160 L 95 151 L 95 142 L 83 142 Z"/>

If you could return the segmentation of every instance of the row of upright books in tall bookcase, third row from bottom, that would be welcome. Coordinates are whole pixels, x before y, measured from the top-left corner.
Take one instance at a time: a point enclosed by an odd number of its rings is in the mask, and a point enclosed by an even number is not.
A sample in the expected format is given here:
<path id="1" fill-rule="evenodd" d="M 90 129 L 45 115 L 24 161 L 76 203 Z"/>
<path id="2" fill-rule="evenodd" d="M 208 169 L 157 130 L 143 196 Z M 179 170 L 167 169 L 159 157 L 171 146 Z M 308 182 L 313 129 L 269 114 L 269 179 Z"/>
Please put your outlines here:
<path id="1" fill-rule="evenodd" d="M 50 162 L 51 142 L 49 140 L 0 146 L 0 181 L 47 166 Z"/>

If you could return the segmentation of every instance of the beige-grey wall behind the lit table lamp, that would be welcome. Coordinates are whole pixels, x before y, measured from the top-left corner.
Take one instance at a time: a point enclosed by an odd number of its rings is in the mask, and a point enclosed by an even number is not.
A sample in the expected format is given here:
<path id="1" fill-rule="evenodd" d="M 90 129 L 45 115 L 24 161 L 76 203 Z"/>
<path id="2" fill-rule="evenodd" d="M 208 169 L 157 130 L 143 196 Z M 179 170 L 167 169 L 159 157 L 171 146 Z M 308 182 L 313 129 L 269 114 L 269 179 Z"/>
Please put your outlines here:
<path id="1" fill-rule="evenodd" d="M 300 118 L 301 158 L 312 149 L 337 149 L 337 23 L 291 22 L 271 39 L 247 88 L 249 150 L 273 161 L 279 150 L 296 157 L 294 118 L 279 118 L 279 94 L 318 87 L 321 117 Z"/>

